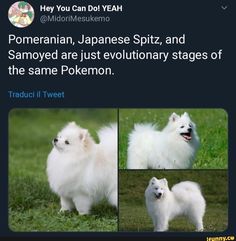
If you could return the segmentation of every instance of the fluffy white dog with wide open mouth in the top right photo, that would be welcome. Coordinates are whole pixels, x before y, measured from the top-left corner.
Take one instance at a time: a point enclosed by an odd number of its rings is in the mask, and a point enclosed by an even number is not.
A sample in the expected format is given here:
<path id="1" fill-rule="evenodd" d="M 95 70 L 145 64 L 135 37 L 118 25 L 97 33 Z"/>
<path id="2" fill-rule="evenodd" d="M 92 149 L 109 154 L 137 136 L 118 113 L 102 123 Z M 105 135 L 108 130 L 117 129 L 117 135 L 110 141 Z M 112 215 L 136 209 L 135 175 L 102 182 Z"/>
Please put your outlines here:
<path id="1" fill-rule="evenodd" d="M 196 125 L 188 113 L 173 113 L 161 131 L 153 124 L 135 124 L 129 135 L 127 168 L 191 168 L 198 148 Z"/>

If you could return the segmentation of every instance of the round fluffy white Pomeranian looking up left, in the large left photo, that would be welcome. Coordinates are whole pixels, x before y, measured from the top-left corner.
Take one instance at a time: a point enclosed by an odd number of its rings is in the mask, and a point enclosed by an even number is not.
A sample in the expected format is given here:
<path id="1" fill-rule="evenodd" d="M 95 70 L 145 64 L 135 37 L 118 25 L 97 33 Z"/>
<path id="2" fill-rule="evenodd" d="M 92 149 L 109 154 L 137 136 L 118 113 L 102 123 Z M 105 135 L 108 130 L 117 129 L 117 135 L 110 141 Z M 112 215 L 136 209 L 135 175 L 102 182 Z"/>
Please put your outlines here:
<path id="1" fill-rule="evenodd" d="M 103 198 L 117 207 L 117 125 L 100 129 L 98 136 L 96 144 L 88 130 L 70 122 L 53 140 L 47 175 L 60 196 L 60 211 L 89 214 Z"/>

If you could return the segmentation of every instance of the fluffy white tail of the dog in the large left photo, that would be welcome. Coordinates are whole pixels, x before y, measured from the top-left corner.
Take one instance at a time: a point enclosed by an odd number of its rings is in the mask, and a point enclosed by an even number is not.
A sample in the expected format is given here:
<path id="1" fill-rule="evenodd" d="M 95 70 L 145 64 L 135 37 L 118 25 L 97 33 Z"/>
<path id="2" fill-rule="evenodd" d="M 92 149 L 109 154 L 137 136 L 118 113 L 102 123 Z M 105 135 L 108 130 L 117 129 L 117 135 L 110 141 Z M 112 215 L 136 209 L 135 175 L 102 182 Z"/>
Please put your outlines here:
<path id="1" fill-rule="evenodd" d="M 118 145 L 118 133 L 117 124 L 112 123 L 109 126 L 105 126 L 98 131 L 98 137 L 100 140 L 99 145 L 105 150 L 109 159 L 117 162 L 117 145 Z"/>

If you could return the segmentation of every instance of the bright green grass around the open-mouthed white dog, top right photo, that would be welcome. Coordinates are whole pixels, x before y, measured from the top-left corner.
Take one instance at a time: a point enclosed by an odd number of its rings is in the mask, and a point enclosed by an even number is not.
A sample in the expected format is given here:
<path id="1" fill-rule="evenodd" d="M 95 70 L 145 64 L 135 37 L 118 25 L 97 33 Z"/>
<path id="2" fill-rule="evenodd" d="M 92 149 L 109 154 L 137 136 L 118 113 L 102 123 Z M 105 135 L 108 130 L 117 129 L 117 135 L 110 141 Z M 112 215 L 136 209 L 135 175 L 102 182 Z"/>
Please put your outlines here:
<path id="1" fill-rule="evenodd" d="M 128 134 L 134 123 L 156 123 L 162 129 L 171 113 L 190 114 L 197 125 L 201 146 L 194 168 L 217 169 L 228 167 L 228 117 L 223 109 L 120 109 L 119 110 L 119 167 L 126 168 Z"/>

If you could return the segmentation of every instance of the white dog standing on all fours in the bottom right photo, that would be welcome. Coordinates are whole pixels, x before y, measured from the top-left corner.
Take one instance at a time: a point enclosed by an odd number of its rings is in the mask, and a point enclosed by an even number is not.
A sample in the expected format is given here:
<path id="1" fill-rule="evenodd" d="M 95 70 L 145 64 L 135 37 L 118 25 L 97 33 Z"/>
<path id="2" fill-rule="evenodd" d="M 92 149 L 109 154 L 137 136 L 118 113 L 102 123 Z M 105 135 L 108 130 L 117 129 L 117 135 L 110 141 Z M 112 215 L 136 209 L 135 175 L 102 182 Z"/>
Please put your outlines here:
<path id="1" fill-rule="evenodd" d="M 153 177 L 145 191 L 145 198 L 154 231 L 167 231 L 168 222 L 180 215 L 186 216 L 196 226 L 196 231 L 203 231 L 206 203 L 197 183 L 180 182 L 170 190 L 165 178 L 158 180 Z"/>

